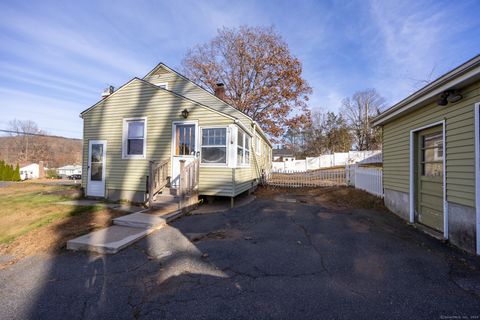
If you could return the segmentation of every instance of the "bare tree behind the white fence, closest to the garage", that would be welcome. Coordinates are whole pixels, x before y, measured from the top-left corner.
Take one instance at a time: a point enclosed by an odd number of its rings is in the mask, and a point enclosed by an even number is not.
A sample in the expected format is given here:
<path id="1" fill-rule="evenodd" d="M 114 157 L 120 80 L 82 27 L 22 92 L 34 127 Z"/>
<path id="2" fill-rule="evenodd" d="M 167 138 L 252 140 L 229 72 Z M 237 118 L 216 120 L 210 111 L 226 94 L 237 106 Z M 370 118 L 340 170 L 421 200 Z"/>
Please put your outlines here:
<path id="1" fill-rule="evenodd" d="M 385 99 L 375 89 L 356 92 L 342 101 L 342 112 L 347 118 L 357 150 L 373 150 L 381 146 L 380 128 L 373 128 L 372 119 L 380 114 Z"/>

